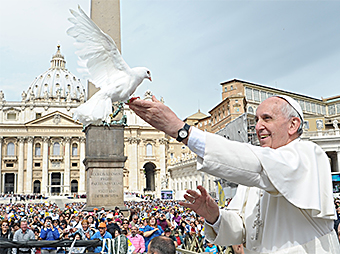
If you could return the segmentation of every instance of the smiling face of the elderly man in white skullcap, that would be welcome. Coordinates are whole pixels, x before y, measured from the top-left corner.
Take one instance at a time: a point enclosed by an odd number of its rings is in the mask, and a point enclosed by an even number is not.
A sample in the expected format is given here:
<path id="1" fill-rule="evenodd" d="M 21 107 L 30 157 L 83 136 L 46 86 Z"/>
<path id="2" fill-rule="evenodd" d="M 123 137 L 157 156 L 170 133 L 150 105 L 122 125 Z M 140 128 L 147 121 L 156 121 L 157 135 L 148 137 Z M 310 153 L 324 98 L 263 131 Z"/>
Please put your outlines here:
<path id="1" fill-rule="evenodd" d="M 278 97 L 263 101 L 256 110 L 256 134 L 262 147 L 278 148 L 288 144 L 290 120 L 281 107 L 285 102 Z"/>

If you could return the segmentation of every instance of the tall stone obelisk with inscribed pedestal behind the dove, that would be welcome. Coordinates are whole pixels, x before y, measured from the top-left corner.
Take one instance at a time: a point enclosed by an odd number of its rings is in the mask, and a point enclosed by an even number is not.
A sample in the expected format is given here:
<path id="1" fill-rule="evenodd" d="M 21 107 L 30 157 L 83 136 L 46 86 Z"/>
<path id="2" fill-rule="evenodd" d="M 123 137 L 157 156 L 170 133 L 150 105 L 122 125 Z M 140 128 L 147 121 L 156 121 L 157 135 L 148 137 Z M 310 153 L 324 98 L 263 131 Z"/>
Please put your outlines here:
<path id="1" fill-rule="evenodd" d="M 116 42 L 120 50 L 120 6 L 119 0 L 92 0 L 91 18 Z M 98 90 L 89 82 L 88 98 Z M 116 206 L 124 209 L 123 169 L 124 126 L 94 126 L 85 129 L 86 156 L 86 210 Z"/>

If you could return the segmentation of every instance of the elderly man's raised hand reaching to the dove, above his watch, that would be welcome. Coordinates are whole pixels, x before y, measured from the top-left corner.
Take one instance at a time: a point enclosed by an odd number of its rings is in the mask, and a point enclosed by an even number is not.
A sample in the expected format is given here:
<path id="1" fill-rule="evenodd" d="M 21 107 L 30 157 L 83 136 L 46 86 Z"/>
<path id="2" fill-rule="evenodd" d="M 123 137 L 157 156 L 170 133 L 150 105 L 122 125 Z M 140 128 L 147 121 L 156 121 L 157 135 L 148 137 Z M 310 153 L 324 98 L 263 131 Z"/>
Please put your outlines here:
<path id="1" fill-rule="evenodd" d="M 178 130 L 184 126 L 184 122 L 155 96 L 152 96 L 152 101 L 133 100 L 128 105 L 145 122 L 173 138 L 177 137 Z"/>

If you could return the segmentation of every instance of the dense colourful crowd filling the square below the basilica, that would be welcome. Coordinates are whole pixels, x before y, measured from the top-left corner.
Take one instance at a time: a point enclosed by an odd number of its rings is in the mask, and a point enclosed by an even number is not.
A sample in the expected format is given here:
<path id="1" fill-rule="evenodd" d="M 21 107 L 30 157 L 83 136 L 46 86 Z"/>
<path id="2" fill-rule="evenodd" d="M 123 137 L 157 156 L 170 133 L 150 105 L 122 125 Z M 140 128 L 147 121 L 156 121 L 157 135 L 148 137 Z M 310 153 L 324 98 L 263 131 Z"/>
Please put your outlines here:
<path id="1" fill-rule="evenodd" d="M 47 201 L 27 203 L 19 200 L 0 204 L 1 240 L 103 240 L 126 236 L 134 246 L 133 253 L 140 254 L 148 252 L 149 243 L 157 236 L 171 238 L 176 247 L 181 247 L 187 239 L 196 237 L 204 240 L 205 237 L 204 219 L 176 201 L 156 199 L 125 202 L 125 208 L 122 209 L 116 207 L 114 210 L 105 210 L 104 207 L 98 207 L 93 211 L 85 211 L 85 205 L 79 202 L 69 203 L 64 208 L 59 208 Z M 334 227 L 339 232 L 340 199 L 335 200 L 335 206 L 338 220 Z M 102 247 L 77 250 L 99 253 Z M 217 252 L 216 246 L 208 242 L 204 243 L 204 250 Z M 0 254 L 48 254 L 65 251 L 65 248 L 55 247 L 0 248 Z"/>

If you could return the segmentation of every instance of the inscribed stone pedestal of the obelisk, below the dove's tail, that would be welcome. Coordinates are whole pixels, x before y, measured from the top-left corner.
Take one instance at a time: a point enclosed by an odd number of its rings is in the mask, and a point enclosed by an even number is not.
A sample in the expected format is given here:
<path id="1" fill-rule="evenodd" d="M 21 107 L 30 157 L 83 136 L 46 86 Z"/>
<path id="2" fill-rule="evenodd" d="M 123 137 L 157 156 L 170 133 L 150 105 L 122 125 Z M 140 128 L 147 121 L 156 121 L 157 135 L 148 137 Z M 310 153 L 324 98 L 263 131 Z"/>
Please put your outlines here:
<path id="1" fill-rule="evenodd" d="M 86 210 L 124 207 L 124 126 L 94 126 L 85 129 Z"/>

